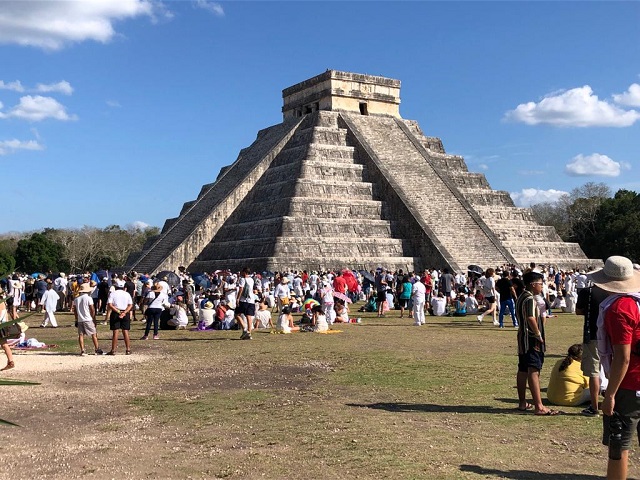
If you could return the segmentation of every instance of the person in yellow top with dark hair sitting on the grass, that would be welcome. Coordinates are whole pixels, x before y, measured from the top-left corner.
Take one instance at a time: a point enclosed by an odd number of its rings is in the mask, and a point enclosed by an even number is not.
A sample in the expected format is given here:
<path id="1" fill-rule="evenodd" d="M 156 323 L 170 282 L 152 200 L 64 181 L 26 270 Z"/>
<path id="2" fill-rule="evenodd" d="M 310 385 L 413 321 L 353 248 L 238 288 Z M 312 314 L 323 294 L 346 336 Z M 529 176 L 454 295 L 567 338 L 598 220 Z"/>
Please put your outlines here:
<path id="1" fill-rule="evenodd" d="M 582 345 L 571 345 L 564 360 L 558 360 L 551 371 L 547 398 L 554 405 L 575 407 L 590 401 L 589 377 L 582 374 Z"/>

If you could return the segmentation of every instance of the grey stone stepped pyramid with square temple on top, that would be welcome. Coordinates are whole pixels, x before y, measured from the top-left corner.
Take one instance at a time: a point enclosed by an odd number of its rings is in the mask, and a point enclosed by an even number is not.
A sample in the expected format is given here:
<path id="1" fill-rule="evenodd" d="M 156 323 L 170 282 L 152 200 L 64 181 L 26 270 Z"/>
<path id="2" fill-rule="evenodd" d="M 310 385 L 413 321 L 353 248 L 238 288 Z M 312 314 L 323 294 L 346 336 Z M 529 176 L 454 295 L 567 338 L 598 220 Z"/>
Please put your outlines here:
<path id="1" fill-rule="evenodd" d="M 327 70 L 282 96 L 282 123 L 259 131 L 129 269 L 592 263 L 404 120 L 399 80 Z"/>

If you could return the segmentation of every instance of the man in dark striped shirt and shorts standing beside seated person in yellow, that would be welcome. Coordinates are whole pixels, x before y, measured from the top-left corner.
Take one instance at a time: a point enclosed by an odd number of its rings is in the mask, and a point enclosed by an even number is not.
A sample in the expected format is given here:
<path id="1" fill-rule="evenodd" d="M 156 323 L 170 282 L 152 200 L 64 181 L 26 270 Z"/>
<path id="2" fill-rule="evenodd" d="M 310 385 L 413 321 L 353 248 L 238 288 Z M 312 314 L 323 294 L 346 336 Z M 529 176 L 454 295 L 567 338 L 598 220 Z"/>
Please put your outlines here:
<path id="1" fill-rule="evenodd" d="M 536 415 L 557 415 L 558 412 L 542 404 L 540 394 L 540 371 L 544 363 L 545 335 L 544 318 L 534 295 L 542 292 L 544 277 L 541 273 L 529 271 L 524 274 L 525 291 L 518 297 L 516 315 L 520 319 L 518 325 L 518 409 L 526 411 L 531 408 L 527 403 L 527 384 L 533 398 Z"/>

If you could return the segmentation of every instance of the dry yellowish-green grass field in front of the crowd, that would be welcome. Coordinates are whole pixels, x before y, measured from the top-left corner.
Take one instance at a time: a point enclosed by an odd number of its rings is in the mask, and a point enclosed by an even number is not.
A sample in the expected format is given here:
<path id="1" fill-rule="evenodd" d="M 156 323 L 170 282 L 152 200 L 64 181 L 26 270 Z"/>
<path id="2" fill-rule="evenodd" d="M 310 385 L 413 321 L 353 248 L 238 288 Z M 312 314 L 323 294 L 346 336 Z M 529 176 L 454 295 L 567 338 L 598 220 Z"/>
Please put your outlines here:
<path id="1" fill-rule="evenodd" d="M 599 418 L 579 415 L 582 407 L 560 407 L 556 417 L 515 410 L 515 329 L 472 316 L 427 317 L 414 327 L 389 313 L 354 313 L 361 324 L 335 325 L 341 332 L 330 335 L 257 331 L 239 341 L 237 331 L 163 331 L 159 341 L 134 340 L 134 355 L 147 359 L 101 385 L 130 386 L 119 390 L 120 408 L 153 419 L 150 441 L 167 429 L 187 432 L 178 451 L 149 466 L 162 478 L 601 477 Z M 77 351 L 73 328 L 30 334 Z M 99 334 L 104 347 L 107 327 Z M 136 323 L 132 338 L 141 334 Z M 549 319 L 543 387 L 581 335 L 581 318 Z M 98 424 L 126 428 L 108 418 Z M 638 476 L 636 452 L 630 458 Z"/>

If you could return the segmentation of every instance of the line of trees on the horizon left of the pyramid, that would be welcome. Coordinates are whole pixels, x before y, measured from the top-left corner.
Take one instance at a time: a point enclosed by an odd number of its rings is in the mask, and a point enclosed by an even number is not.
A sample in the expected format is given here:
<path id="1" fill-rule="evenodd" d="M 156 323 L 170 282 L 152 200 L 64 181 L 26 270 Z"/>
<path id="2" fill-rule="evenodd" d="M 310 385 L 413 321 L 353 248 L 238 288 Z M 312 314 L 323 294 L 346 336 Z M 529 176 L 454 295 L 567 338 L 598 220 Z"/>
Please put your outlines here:
<path id="1" fill-rule="evenodd" d="M 14 271 L 84 272 L 122 266 L 129 253 L 141 250 L 158 233 L 157 227 L 110 225 L 5 234 L 0 236 L 0 276 Z"/>

